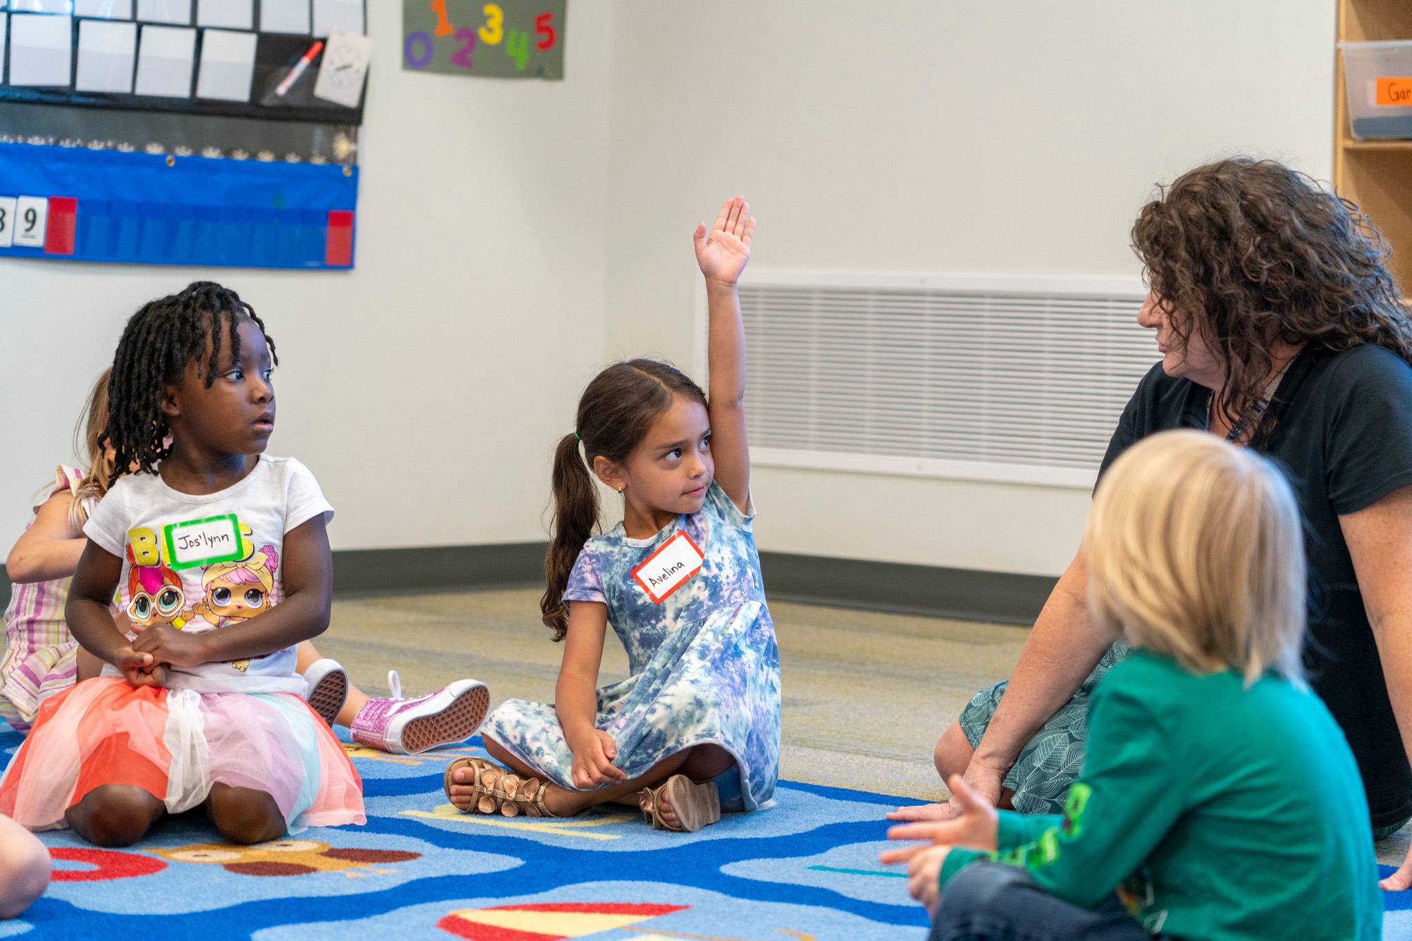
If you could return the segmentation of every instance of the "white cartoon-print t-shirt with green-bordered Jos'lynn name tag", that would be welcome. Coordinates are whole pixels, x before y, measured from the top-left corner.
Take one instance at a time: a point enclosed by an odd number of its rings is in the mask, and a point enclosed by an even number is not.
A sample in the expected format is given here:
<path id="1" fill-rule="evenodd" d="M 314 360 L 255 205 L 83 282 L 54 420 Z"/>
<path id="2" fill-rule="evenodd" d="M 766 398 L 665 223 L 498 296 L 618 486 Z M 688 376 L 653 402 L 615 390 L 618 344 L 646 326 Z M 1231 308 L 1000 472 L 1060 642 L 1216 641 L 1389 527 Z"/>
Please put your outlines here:
<path id="1" fill-rule="evenodd" d="M 123 560 L 119 607 L 134 628 L 216 631 L 284 600 L 284 535 L 333 519 L 309 468 L 260 456 L 215 494 L 182 494 L 157 474 L 126 474 L 99 501 L 83 533 Z M 104 674 L 116 676 L 112 666 Z M 295 648 L 233 663 L 168 667 L 167 686 L 196 693 L 298 693 Z"/>

